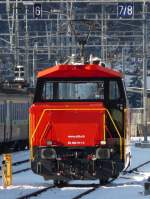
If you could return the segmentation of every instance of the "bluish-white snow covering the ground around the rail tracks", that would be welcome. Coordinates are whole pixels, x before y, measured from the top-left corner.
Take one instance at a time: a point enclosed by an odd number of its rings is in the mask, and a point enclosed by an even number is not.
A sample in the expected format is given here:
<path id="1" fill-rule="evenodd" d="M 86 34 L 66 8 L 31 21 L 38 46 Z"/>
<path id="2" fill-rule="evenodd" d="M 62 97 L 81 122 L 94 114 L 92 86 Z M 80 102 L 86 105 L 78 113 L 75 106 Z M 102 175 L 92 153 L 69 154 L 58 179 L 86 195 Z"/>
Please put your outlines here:
<path id="1" fill-rule="evenodd" d="M 131 168 L 138 166 L 145 161 L 150 160 L 150 149 L 142 149 L 134 146 L 132 142 L 131 146 L 132 162 Z M 20 152 L 13 155 L 13 162 L 20 159 L 27 159 L 29 157 L 28 152 Z M 139 169 L 140 173 L 120 175 L 120 177 L 107 186 L 102 186 L 91 194 L 84 196 L 84 199 L 147 199 L 150 196 L 144 196 L 144 182 L 150 176 L 150 164 Z M 125 178 L 124 178 L 125 177 Z M 75 183 L 98 183 L 98 181 L 72 181 Z M 13 185 L 4 189 L 2 186 L 2 180 L 0 180 L 0 199 L 16 199 L 27 193 L 32 193 L 35 190 L 42 189 L 48 185 L 53 184 L 52 181 L 44 181 L 42 177 L 35 175 L 32 171 L 23 172 L 13 176 Z M 71 199 L 79 193 L 82 193 L 90 189 L 89 187 L 64 187 L 51 189 L 38 197 L 40 199 Z"/>

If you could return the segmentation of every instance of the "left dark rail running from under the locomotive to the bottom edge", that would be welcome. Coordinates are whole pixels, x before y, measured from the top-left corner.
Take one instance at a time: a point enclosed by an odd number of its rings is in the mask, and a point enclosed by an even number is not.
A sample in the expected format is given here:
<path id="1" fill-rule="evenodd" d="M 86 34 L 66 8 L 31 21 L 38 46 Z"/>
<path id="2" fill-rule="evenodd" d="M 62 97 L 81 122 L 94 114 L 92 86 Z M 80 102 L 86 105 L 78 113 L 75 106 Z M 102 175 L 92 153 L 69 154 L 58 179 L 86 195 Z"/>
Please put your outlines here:
<path id="1" fill-rule="evenodd" d="M 27 194 L 27 195 L 24 195 L 24 196 L 21 196 L 21 197 L 18 197 L 16 199 L 28 199 L 28 198 L 31 198 L 31 197 L 36 197 L 36 196 L 40 195 L 41 193 L 46 192 L 49 189 L 53 189 L 55 187 L 56 187 L 55 185 L 50 185 L 48 187 L 45 187 L 44 189 L 40 189 L 38 191 L 32 192 L 30 194 Z"/>

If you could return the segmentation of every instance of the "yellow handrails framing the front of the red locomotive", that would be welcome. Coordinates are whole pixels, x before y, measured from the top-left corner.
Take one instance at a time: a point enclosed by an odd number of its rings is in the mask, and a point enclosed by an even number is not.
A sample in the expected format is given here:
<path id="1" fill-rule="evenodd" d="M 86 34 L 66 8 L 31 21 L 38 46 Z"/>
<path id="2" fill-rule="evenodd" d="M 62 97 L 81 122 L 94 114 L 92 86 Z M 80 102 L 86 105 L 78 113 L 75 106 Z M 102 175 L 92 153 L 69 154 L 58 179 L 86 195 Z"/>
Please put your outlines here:
<path id="1" fill-rule="evenodd" d="M 114 128 L 115 128 L 115 130 L 116 130 L 116 132 L 117 132 L 117 134 L 118 134 L 118 136 L 119 136 L 119 140 L 120 140 L 120 158 L 122 159 L 122 137 L 121 137 L 121 134 L 120 134 L 120 132 L 119 132 L 119 130 L 118 130 L 118 128 L 117 128 L 117 126 L 116 126 L 116 124 L 115 124 L 115 122 L 113 121 L 113 118 L 112 118 L 112 116 L 111 116 L 111 114 L 110 114 L 110 112 L 108 111 L 108 109 L 106 109 L 106 108 L 95 108 L 95 109 L 93 109 L 93 108 L 88 108 L 88 109 L 86 109 L 86 108 L 82 108 L 82 109 L 77 109 L 77 108 L 65 108 L 65 109 L 63 109 L 63 108 L 51 108 L 51 109 L 44 109 L 43 110 L 43 112 L 42 112 L 42 114 L 41 114 L 41 116 L 40 116 L 40 119 L 39 119 L 39 121 L 38 121 L 38 123 L 37 123 L 37 125 L 36 125 L 36 128 L 35 128 L 35 130 L 34 130 L 34 132 L 33 132 L 33 134 L 32 134 L 32 136 L 31 136 L 31 129 L 30 129 L 30 150 L 31 150 L 31 153 L 30 153 L 30 159 L 32 160 L 32 159 L 34 159 L 34 157 L 33 157 L 33 139 L 35 138 L 35 135 L 36 135 L 36 133 L 37 133 L 37 129 L 38 129 L 38 127 L 39 127 L 39 125 L 40 125 L 40 123 L 41 123 L 41 121 L 42 121 L 42 118 L 43 118 L 43 116 L 44 116 L 44 114 L 47 112 L 47 111 L 72 111 L 72 110 L 77 110 L 77 111 L 79 111 L 79 110 L 82 110 L 82 111 L 96 111 L 96 110 L 99 110 L 99 111 L 106 111 L 107 113 L 108 113 L 108 116 L 109 116 L 109 118 L 110 118 L 110 120 L 111 120 L 111 122 L 112 122 L 112 124 L 113 124 L 113 126 L 114 126 Z M 105 117 L 104 117 L 105 118 Z M 48 125 L 47 125 L 48 126 Z M 47 129 L 47 127 L 46 127 L 46 129 Z M 45 134 L 45 132 L 46 132 L 46 130 L 44 131 L 44 134 Z M 42 134 L 43 135 L 43 134 Z M 44 136 L 44 135 L 43 135 Z M 41 136 L 42 138 L 43 138 L 43 136 Z M 42 139 L 41 138 L 41 139 Z M 40 140 L 41 140 L 40 139 Z M 104 131 L 104 139 L 106 139 L 106 137 L 105 137 L 105 131 Z"/>

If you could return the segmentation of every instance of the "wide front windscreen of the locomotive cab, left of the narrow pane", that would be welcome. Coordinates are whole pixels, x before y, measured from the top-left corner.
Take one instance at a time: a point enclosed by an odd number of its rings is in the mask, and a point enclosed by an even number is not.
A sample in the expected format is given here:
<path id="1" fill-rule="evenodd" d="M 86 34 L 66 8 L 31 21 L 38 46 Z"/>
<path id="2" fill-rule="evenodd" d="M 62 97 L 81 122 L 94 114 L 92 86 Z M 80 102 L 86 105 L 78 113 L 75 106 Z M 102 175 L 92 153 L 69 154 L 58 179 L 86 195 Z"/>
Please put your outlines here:
<path id="1" fill-rule="evenodd" d="M 104 81 L 45 81 L 38 101 L 104 100 Z"/>

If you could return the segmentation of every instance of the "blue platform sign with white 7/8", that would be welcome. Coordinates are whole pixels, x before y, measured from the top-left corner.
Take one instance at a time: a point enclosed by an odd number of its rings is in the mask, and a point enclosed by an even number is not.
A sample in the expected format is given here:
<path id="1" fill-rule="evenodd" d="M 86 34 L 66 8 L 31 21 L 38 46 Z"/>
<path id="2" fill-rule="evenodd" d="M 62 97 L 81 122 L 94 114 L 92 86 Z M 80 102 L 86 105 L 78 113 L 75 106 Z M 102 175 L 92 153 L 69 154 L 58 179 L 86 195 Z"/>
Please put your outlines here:
<path id="1" fill-rule="evenodd" d="M 118 17 L 131 18 L 134 15 L 134 4 L 130 2 L 118 3 L 117 7 Z"/>

